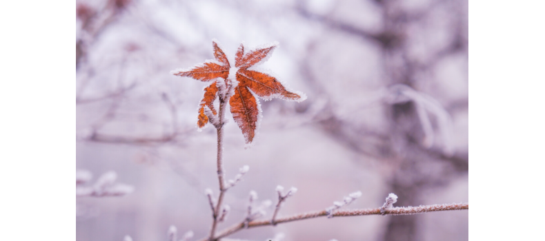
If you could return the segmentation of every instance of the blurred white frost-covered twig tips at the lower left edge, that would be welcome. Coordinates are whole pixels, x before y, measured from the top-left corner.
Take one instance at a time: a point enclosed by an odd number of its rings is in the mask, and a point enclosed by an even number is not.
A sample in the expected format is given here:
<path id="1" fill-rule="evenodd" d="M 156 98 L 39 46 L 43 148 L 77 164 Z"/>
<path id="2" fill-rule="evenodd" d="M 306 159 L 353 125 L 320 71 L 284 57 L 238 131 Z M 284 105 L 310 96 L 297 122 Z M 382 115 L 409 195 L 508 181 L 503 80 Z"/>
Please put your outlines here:
<path id="1" fill-rule="evenodd" d="M 78 174 L 79 173 L 79 174 Z M 77 197 L 105 197 L 124 196 L 134 191 L 134 187 L 122 183 L 116 183 L 117 174 L 115 171 L 108 171 L 95 182 L 94 185 L 83 187 L 81 184 L 90 180 L 91 174 L 88 171 L 76 172 L 76 196 Z"/>

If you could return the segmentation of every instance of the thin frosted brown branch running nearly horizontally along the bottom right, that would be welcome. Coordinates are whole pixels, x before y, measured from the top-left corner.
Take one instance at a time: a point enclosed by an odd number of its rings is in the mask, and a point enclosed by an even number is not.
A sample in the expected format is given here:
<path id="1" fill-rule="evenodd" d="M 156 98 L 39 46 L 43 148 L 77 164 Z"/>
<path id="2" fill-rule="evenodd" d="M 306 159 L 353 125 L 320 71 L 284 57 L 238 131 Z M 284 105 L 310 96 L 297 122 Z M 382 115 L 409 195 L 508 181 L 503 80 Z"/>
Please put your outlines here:
<path id="1" fill-rule="evenodd" d="M 444 205 L 422 205 L 419 207 L 394 207 L 384 211 L 384 213 L 381 213 L 380 208 L 341 210 L 341 211 L 335 211 L 333 213 L 333 217 L 366 216 L 366 215 L 397 216 L 397 215 L 427 213 L 427 212 L 433 212 L 433 211 L 450 211 L 450 210 L 464 210 L 464 209 L 466 210 L 469 209 L 468 203 L 461 203 L 461 204 L 453 203 L 453 204 L 444 204 Z M 326 210 L 321 210 L 321 211 L 311 211 L 308 213 L 298 213 L 293 216 L 278 218 L 277 220 L 275 220 L 275 224 L 279 224 L 283 222 L 292 222 L 297 220 L 304 220 L 309 218 L 318 218 L 322 216 L 328 216 L 328 212 Z M 252 227 L 262 227 L 262 226 L 268 226 L 268 225 L 272 225 L 270 220 L 255 220 L 248 223 L 248 229 Z M 244 229 L 244 222 L 240 222 L 239 224 L 235 224 L 232 227 L 228 227 L 227 229 L 224 229 L 223 231 L 217 234 L 214 240 L 223 238 L 227 235 L 230 235 L 231 233 L 235 233 L 236 231 L 239 231 L 240 229 Z"/>

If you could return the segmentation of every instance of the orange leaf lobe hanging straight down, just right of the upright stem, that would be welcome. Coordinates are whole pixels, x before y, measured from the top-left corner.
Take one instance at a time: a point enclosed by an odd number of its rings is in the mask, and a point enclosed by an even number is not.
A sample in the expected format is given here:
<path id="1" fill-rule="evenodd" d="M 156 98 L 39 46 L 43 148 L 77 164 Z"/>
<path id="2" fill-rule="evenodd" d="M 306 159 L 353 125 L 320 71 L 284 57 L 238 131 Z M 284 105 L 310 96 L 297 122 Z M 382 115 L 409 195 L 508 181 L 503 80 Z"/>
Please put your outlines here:
<path id="1" fill-rule="evenodd" d="M 235 94 L 231 96 L 229 105 L 232 118 L 242 130 L 246 144 L 251 143 L 255 136 L 259 115 L 257 100 L 246 87 L 239 85 L 235 88 Z"/>

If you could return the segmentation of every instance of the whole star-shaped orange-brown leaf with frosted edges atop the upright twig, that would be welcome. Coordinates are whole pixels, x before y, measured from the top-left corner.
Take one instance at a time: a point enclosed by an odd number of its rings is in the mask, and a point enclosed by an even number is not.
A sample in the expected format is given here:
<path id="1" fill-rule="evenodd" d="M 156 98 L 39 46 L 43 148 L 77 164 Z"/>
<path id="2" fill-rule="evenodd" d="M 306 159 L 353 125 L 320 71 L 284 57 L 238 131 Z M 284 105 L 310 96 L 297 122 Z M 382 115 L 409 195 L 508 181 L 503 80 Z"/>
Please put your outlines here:
<path id="1" fill-rule="evenodd" d="M 254 94 L 265 100 L 281 98 L 288 101 L 304 101 L 306 99 L 303 93 L 287 90 L 274 76 L 256 70 L 248 70 L 252 66 L 267 61 L 277 45 L 278 43 L 275 42 L 246 52 L 244 43 L 241 43 L 235 54 L 235 67 L 230 67 L 224 51 L 216 41 L 212 41 L 213 54 L 217 63 L 207 61 L 190 70 L 172 71 L 172 74 L 177 76 L 188 76 L 200 81 L 214 80 L 214 83 L 206 87 L 204 98 L 199 105 L 199 121 L 197 122 L 199 127 L 204 127 L 209 122 L 205 107 L 210 108 L 212 114 L 216 114 L 213 105 L 215 98 L 220 96 L 221 101 L 224 96 L 230 96 L 229 105 L 232 116 L 242 130 L 246 144 L 250 144 L 255 137 L 256 129 L 259 126 L 259 116 L 261 116 L 259 101 Z M 225 91 L 227 88 L 223 88 L 226 85 L 232 86 L 234 93 L 227 93 Z"/>

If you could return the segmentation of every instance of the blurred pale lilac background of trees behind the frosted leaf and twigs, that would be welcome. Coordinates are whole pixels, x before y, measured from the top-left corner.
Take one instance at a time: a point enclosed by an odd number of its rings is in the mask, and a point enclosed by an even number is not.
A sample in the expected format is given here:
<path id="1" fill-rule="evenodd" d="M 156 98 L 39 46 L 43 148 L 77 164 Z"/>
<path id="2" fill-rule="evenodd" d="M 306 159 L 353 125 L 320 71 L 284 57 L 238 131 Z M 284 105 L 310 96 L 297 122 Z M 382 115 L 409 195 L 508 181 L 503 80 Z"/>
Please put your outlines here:
<path id="1" fill-rule="evenodd" d="M 206 83 L 170 70 L 213 59 L 212 39 L 233 56 L 278 41 L 262 65 L 301 103 L 261 100 L 255 145 L 230 120 L 224 167 L 244 180 L 226 193 L 219 230 L 244 219 L 248 193 L 277 200 L 279 216 L 325 209 L 353 191 L 346 208 L 468 202 L 468 2 L 77 1 L 77 169 L 117 173 L 134 191 L 77 197 L 77 240 L 205 237 L 217 195 L 216 132 L 197 132 Z M 80 175 L 81 176 L 81 175 Z M 268 209 L 267 217 L 273 212 Z M 467 240 L 468 211 L 413 216 L 316 218 L 248 229 L 229 238 L 266 240 Z"/>

